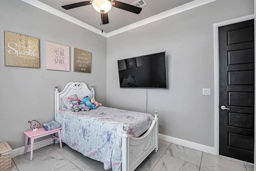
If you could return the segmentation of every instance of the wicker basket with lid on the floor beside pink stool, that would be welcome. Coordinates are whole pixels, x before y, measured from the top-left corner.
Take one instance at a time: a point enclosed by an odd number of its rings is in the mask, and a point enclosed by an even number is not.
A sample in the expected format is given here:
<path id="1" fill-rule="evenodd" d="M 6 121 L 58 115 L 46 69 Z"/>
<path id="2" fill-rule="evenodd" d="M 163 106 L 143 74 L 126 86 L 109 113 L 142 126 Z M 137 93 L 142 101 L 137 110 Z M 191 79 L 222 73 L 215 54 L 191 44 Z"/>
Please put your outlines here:
<path id="1" fill-rule="evenodd" d="M 7 142 L 0 143 L 0 171 L 12 170 L 12 148 Z"/>

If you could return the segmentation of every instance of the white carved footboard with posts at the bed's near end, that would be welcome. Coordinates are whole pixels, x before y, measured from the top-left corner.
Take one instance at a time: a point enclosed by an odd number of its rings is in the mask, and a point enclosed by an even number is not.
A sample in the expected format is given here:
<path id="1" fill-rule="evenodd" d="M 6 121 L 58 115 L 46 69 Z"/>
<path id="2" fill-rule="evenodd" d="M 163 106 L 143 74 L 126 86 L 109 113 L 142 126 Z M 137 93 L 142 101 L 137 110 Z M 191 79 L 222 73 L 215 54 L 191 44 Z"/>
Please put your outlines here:
<path id="1" fill-rule="evenodd" d="M 133 171 L 155 149 L 158 150 L 158 113 L 148 131 L 141 137 L 134 138 L 128 134 L 124 125 L 122 136 L 122 171 Z"/>

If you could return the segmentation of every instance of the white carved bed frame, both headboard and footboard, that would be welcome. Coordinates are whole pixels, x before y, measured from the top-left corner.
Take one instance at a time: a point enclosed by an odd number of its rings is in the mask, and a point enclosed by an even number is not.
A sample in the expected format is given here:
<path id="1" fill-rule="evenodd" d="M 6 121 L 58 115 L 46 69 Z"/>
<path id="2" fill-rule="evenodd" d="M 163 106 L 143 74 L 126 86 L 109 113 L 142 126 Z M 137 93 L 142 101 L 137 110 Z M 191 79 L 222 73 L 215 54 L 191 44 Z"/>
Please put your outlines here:
<path id="1" fill-rule="evenodd" d="M 94 86 L 90 90 L 83 82 L 70 82 L 62 91 L 58 91 L 55 86 L 54 91 L 54 120 L 61 108 L 61 99 L 72 94 L 79 97 L 90 95 L 94 97 Z M 158 113 L 154 113 L 155 117 L 148 131 L 141 137 L 134 138 L 129 135 L 128 127 L 123 126 L 124 134 L 122 135 L 122 171 L 133 171 L 146 159 L 152 151 L 158 151 Z"/>

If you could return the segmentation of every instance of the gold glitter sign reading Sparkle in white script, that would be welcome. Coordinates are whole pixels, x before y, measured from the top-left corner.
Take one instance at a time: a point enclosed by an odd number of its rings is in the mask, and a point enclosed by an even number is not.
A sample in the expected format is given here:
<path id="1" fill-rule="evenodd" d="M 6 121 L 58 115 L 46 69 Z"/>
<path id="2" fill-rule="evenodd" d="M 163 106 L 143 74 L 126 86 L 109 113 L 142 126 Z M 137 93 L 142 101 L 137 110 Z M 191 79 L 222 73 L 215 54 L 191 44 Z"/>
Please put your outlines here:
<path id="1" fill-rule="evenodd" d="M 5 66 L 39 68 L 39 39 L 4 31 Z"/>

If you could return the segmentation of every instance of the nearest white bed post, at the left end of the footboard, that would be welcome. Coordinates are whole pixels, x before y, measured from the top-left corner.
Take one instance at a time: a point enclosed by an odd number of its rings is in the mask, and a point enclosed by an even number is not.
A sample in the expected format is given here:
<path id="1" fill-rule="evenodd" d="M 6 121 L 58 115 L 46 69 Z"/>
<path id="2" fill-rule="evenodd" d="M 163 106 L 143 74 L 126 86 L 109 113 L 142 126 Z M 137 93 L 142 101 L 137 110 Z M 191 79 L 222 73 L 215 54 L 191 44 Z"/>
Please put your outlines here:
<path id="1" fill-rule="evenodd" d="M 122 135 L 122 171 L 129 171 L 129 134 L 128 126 L 123 126 Z"/>

